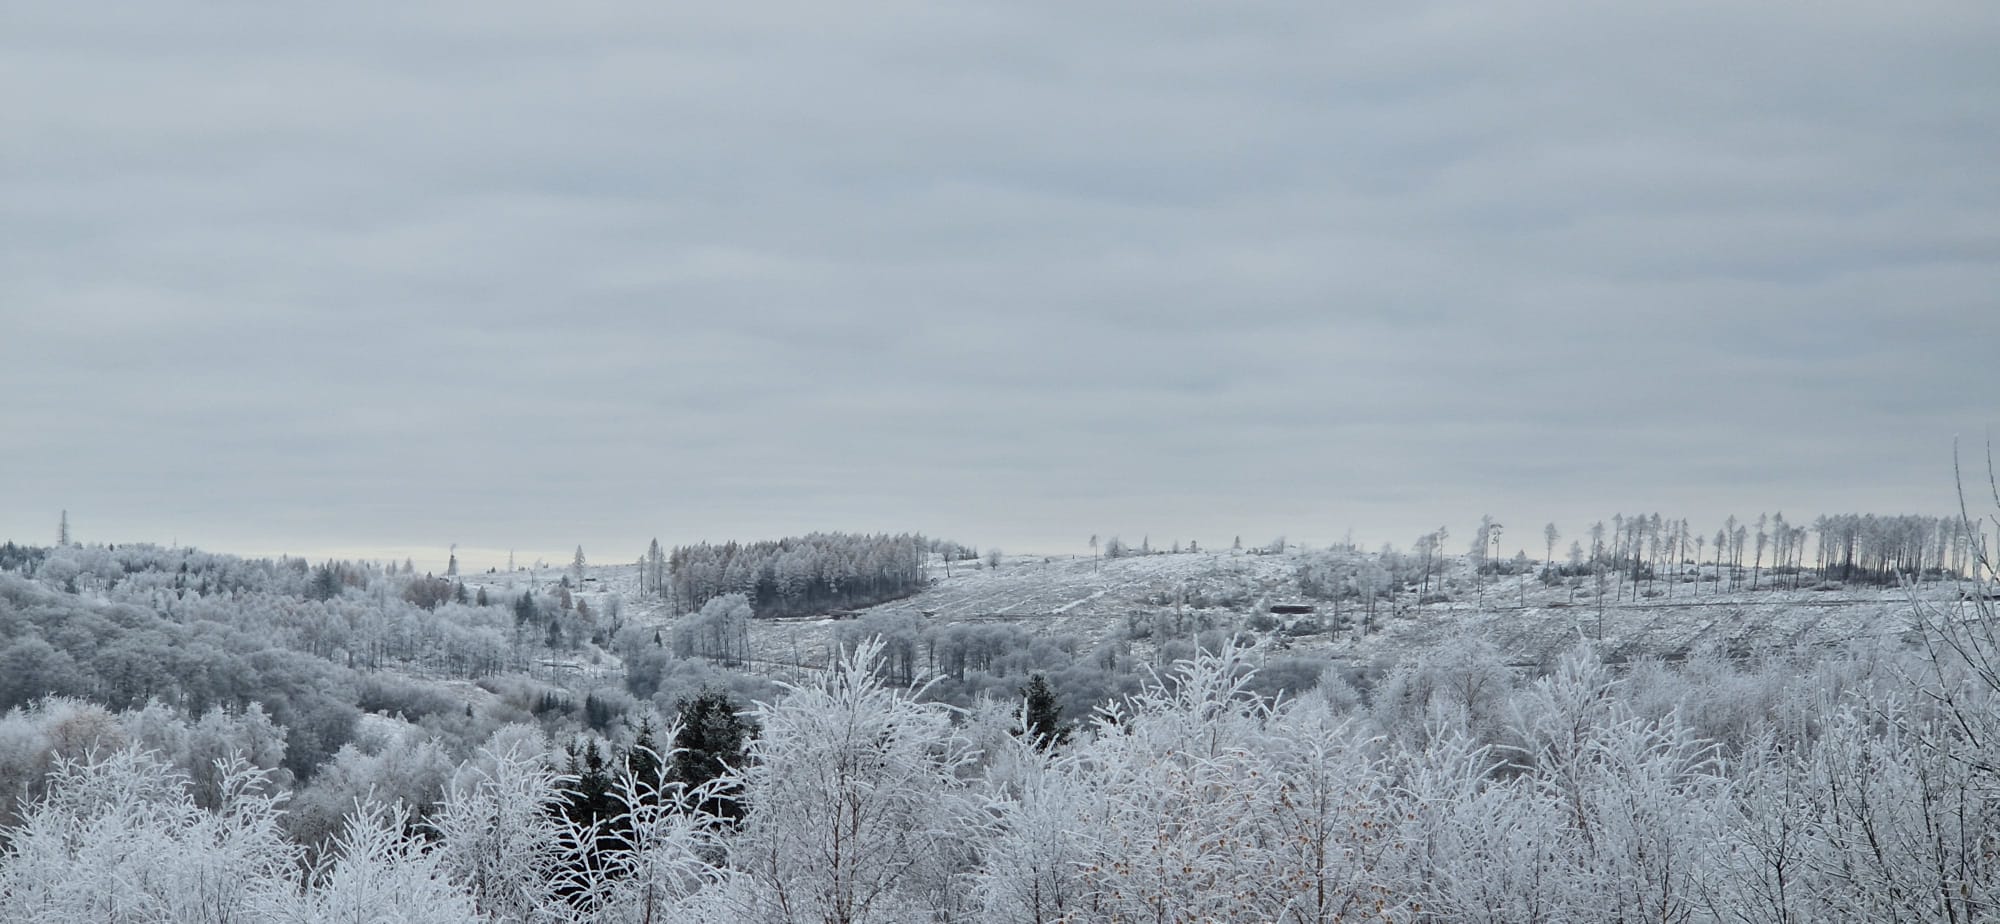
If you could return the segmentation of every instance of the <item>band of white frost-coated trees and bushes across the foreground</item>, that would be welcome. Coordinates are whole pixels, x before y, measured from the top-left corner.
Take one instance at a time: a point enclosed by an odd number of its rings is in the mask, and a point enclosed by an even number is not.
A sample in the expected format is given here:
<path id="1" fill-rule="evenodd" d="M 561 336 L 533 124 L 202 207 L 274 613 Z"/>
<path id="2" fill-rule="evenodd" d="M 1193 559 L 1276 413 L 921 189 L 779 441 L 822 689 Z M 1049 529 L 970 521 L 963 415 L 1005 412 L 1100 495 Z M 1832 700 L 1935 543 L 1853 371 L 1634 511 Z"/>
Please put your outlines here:
<path id="1" fill-rule="evenodd" d="M 338 790 L 308 790 L 324 816 L 308 828 L 332 826 L 310 852 L 280 824 L 284 772 L 260 714 L 176 726 L 50 700 L 0 722 L 46 762 L 0 832 L 0 920 L 2000 916 L 1996 690 L 1972 662 L 1702 656 L 1614 672 L 1578 650 L 1524 678 L 1452 642 L 1360 708 L 1258 696 L 1222 646 L 1056 748 L 1014 732 L 1024 702 L 960 712 L 886 676 L 882 646 L 862 644 L 752 708 L 740 766 L 690 788 L 672 752 L 626 762 L 586 820 L 564 814 L 580 782 L 530 726 L 456 768 L 422 738 L 352 750 L 324 772 Z M 180 768 L 216 748 L 206 774 Z M 430 776 L 436 796 L 398 784 Z M 352 804 L 332 814 L 332 792 Z M 436 800 L 428 820 L 412 792 Z M 700 810 L 722 794 L 740 820 Z"/>

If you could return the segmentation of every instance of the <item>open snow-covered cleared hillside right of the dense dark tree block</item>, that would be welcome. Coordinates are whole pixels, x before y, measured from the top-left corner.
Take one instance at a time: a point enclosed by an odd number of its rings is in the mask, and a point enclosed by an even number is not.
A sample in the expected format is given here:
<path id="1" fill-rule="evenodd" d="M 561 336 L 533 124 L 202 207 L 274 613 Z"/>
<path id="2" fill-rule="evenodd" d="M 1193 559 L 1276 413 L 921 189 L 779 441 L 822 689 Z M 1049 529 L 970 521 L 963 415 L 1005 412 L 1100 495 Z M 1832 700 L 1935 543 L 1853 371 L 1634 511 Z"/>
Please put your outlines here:
<path id="1" fill-rule="evenodd" d="M 1330 620 L 1332 602 L 1306 600 L 1298 588 L 1296 554 L 1154 554 L 1092 562 L 1018 560 L 1000 570 L 954 568 L 910 600 L 878 606 L 874 612 L 916 612 L 934 622 L 1008 620 L 1046 632 L 1102 634 L 1132 616 L 1194 612 L 1210 622 L 1248 630 L 1252 614 L 1272 604 L 1310 604 L 1316 618 Z M 1390 614 L 1376 608 L 1374 632 L 1296 636 L 1278 642 L 1266 632 L 1258 644 L 1296 652 L 1320 652 L 1354 662 L 1390 662 L 1402 652 L 1426 648 L 1452 634 L 1476 634 L 1492 642 L 1512 662 L 1546 666 L 1578 638 L 1604 640 L 1610 660 L 1680 658 L 1702 646 L 1730 654 L 1828 646 L 1856 640 L 1900 640 L 1912 626 L 1914 602 L 1942 606 L 1958 598 L 1950 582 L 1912 590 L 1840 586 L 1834 590 L 1774 590 L 1764 578 L 1760 590 L 1718 588 L 1716 572 L 1704 580 L 1652 588 L 1658 596 L 1594 602 L 1594 586 L 1578 590 L 1544 586 L 1530 576 L 1488 578 L 1484 590 L 1460 568 L 1450 576 L 1452 602 L 1412 606 L 1414 594 Z M 1748 576 L 1742 578 L 1748 584 Z M 1616 582 L 1606 584 L 1616 590 Z M 1572 602 L 1574 600 L 1574 602 Z M 1208 604 L 1208 606 L 1200 606 Z M 1354 600 L 1340 606 L 1352 626 L 1360 612 Z"/>

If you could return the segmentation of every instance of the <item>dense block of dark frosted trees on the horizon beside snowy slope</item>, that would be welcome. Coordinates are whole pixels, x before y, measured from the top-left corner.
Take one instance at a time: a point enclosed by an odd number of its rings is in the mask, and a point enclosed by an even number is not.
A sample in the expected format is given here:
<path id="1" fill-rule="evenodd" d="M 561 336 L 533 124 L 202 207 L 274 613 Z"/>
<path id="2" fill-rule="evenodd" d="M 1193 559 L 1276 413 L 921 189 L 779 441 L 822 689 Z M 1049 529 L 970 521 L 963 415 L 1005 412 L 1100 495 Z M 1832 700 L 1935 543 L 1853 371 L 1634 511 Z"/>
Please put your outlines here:
<path id="1" fill-rule="evenodd" d="M 744 594 L 758 616 L 810 616 L 922 590 L 924 554 L 932 546 L 934 540 L 908 532 L 814 532 L 776 542 L 680 546 L 666 566 L 670 594 L 682 610 L 700 610 L 722 594 Z"/>

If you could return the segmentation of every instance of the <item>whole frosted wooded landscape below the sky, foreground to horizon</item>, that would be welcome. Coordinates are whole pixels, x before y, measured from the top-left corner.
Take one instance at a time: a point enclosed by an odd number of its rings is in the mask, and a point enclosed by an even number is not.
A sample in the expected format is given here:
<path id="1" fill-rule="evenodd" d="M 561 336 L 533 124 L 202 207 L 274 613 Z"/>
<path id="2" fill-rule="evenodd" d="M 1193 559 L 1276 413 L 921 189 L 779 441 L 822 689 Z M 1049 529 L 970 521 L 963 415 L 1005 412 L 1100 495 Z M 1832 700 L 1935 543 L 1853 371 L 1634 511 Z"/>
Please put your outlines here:
<path id="1" fill-rule="evenodd" d="M 0 920 L 1990 920 L 1986 550 L 1816 526 L 444 576 L 8 544 Z M 1718 628 L 1880 580 L 1874 632 Z"/>

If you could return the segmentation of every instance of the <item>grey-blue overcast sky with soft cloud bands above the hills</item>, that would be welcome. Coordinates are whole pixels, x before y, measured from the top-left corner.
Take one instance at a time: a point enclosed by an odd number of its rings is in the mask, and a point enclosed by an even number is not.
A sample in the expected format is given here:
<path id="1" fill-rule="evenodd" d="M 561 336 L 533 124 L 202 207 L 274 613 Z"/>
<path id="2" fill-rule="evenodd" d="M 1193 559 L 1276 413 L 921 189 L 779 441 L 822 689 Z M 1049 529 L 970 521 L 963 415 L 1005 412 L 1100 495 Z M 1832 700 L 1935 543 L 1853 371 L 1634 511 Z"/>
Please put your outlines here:
<path id="1" fill-rule="evenodd" d="M 1946 512 L 2000 6 L 0 6 L 0 538 Z"/>

